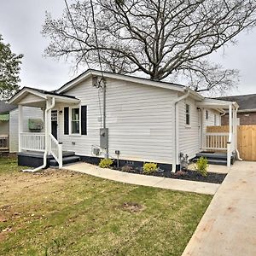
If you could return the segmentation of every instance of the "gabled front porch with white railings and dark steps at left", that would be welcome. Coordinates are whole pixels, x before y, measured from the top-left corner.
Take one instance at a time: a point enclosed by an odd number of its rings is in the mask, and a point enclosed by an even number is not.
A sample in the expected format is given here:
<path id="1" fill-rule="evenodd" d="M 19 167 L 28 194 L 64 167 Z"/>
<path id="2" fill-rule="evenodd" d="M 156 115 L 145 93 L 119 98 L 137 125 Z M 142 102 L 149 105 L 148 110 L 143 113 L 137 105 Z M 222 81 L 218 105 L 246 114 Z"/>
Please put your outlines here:
<path id="1" fill-rule="evenodd" d="M 23 88 L 10 101 L 19 106 L 19 153 L 20 166 L 32 166 L 39 169 L 48 166 L 62 167 L 63 162 L 74 162 L 78 157 L 73 152 L 63 152 L 62 143 L 52 134 L 52 110 L 59 105 L 78 104 L 73 96 L 60 96 L 44 90 Z M 44 111 L 44 127 L 40 131 L 23 131 L 23 107 L 41 108 Z"/>

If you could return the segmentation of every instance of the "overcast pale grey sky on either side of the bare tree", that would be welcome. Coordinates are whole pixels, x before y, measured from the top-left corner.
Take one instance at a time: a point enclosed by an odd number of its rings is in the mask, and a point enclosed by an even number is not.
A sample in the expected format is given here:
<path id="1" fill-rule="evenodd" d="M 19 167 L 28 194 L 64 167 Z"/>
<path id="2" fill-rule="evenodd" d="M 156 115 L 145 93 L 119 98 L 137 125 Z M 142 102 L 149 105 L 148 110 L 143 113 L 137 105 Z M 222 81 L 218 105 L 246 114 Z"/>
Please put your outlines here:
<path id="1" fill-rule="evenodd" d="M 53 17 L 61 15 L 65 8 L 64 0 L 0 0 L 0 34 L 11 49 L 22 53 L 20 85 L 44 90 L 55 90 L 76 73 L 65 61 L 44 58 L 44 49 L 48 45 L 41 35 L 45 11 Z M 71 0 L 68 3 L 72 3 Z M 214 54 L 212 60 L 226 68 L 240 70 L 240 84 L 232 95 L 256 93 L 256 30 L 239 36 L 238 44 Z M 86 67 L 84 67 L 86 69 Z"/>

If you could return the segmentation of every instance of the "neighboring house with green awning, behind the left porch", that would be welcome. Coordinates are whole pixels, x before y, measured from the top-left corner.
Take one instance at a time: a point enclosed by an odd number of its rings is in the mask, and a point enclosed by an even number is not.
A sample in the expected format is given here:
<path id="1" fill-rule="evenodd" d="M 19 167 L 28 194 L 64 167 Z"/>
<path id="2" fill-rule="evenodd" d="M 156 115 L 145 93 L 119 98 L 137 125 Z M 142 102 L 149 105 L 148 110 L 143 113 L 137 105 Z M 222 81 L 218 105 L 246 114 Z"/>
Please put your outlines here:
<path id="1" fill-rule="evenodd" d="M 18 152 L 18 106 L 0 101 L 0 152 Z M 43 111 L 39 108 L 24 108 L 23 131 L 29 132 L 29 119 L 42 119 Z"/>

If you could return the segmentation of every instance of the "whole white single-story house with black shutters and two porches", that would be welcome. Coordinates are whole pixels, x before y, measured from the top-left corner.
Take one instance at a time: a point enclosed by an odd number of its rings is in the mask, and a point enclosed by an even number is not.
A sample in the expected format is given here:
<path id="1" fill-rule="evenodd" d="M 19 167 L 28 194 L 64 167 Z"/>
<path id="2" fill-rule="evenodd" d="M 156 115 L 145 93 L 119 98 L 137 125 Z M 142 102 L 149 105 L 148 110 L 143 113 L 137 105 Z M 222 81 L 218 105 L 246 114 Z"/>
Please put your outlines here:
<path id="1" fill-rule="evenodd" d="M 224 150 L 230 165 L 236 152 L 236 119 L 231 119 L 227 134 L 207 135 L 206 127 L 220 125 L 224 109 L 236 115 L 236 102 L 207 99 L 178 84 L 104 72 L 104 127 L 100 79 L 101 72 L 88 70 L 54 92 L 25 87 L 9 100 L 19 105 L 20 123 L 23 106 L 44 108 L 44 133 L 24 135 L 19 125 L 20 165 L 61 167 L 109 156 L 119 158 L 121 165 L 155 162 L 175 171 L 180 153 L 193 159 L 208 149 Z"/>

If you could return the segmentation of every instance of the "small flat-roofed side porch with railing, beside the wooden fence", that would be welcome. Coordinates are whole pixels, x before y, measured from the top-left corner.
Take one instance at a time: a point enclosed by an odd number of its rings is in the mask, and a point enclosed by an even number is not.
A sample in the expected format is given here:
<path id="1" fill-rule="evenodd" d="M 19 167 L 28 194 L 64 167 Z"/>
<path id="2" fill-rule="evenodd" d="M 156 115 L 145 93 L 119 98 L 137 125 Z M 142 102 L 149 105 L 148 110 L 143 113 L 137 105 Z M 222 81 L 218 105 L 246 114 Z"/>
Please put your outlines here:
<path id="1" fill-rule="evenodd" d="M 205 99 L 198 104 L 200 108 L 200 150 L 196 158 L 204 156 L 211 164 L 230 166 L 234 160 L 240 159 L 237 150 L 237 110 L 239 106 L 236 102 L 225 102 L 214 99 Z M 205 125 L 204 111 L 216 109 L 219 113 L 229 113 L 229 130 L 227 132 L 218 131 Z M 215 126 L 218 127 L 218 126 Z"/>

